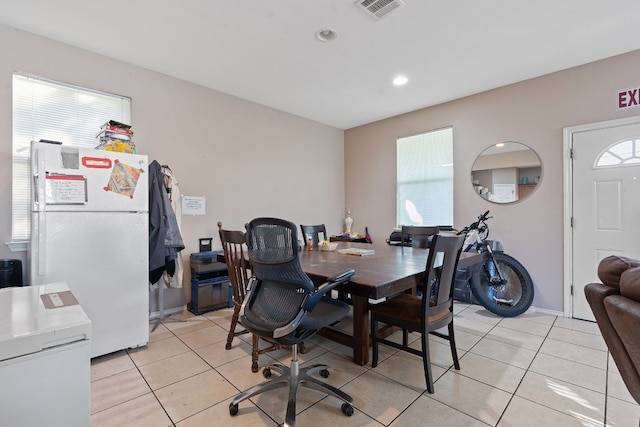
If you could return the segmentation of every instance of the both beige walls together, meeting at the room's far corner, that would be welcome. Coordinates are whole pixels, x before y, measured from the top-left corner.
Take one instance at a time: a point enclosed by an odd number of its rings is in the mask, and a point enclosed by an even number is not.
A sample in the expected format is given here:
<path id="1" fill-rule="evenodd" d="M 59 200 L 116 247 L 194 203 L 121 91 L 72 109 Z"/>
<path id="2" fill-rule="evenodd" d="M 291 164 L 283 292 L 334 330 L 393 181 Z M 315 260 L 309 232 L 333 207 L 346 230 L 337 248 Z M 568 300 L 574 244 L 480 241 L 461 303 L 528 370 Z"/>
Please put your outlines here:
<path id="1" fill-rule="evenodd" d="M 21 71 L 133 98 L 140 152 L 167 163 L 183 194 L 205 196 L 207 214 L 183 218 L 183 255 L 215 222 L 241 227 L 255 216 L 341 230 L 345 201 L 353 228 L 377 242 L 395 224 L 395 141 L 453 126 L 454 225 L 491 209 L 491 236 L 525 264 L 534 305 L 563 308 L 562 129 L 640 114 L 618 112 L 619 89 L 640 84 L 640 52 L 577 67 L 342 132 L 251 102 L 0 25 L 0 239 L 11 237 L 11 74 Z M 520 141 L 542 160 L 536 193 L 514 205 L 482 200 L 470 184 L 475 157 L 498 141 Z M 343 148 L 344 145 L 344 148 Z M 322 153 L 316 156 L 314 152 Z M 342 165 L 344 164 L 344 169 Z M 344 170 L 344 172 L 343 172 Z M 0 258 L 19 258 L 0 245 Z"/>

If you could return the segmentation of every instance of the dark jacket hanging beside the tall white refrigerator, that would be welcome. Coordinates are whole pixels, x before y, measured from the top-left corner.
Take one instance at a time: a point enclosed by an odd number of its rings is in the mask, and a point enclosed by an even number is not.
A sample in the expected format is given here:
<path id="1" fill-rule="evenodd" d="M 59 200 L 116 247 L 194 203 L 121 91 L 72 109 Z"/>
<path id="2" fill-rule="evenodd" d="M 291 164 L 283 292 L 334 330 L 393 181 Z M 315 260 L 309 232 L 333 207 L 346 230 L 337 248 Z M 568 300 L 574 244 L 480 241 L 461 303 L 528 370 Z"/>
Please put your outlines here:
<path id="1" fill-rule="evenodd" d="M 173 277 L 176 273 L 178 253 L 184 249 L 166 182 L 163 167 L 154 160 L 149 165 L 150 283 L 160 280 L 165 271 Z"/>

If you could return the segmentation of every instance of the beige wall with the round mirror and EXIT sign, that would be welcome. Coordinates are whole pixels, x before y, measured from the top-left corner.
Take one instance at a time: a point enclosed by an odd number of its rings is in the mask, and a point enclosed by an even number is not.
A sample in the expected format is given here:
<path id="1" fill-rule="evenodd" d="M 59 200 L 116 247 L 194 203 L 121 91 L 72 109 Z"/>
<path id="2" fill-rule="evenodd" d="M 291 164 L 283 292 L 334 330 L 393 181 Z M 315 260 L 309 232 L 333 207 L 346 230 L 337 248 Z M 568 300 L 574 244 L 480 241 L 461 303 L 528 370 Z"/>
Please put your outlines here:
<path id="1" fill-rule="evenodd" d="M 396 138 L 453 126 L 454 225 L 462 228 L 490 209 L 491 237 L 533 277 L 534 306 L 562 311 L 562 130 L 640 114 L 616 111 L 616 91 L 638 86 L 638 69 L 640 51 L 347 130 L 346 197 L 354 224 L 368 225 L 374 240 L 385 238 L 396 225 Z M 513 205 L 485 201 L 470 184 L 476 156 L 503 141 L 522 142 L 542 160 L 538 189 Z"/>

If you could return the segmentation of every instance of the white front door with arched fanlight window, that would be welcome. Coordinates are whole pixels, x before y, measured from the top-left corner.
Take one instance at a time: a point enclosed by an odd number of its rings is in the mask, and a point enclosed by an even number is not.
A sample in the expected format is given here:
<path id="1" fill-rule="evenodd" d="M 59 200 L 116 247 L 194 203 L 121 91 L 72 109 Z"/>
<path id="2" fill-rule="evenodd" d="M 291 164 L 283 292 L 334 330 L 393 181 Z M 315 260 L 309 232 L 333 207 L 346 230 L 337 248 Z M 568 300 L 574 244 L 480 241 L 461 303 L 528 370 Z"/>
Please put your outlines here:
<path id="1" fill-rule="evenodd" d="M 571 132 L 573 292 L 565 295 L 571 317 L 595 320 L 584 286 L 599 282 L 600 260 L 612 254 L 640 258 L 640 122 L 581 128 Z"/>

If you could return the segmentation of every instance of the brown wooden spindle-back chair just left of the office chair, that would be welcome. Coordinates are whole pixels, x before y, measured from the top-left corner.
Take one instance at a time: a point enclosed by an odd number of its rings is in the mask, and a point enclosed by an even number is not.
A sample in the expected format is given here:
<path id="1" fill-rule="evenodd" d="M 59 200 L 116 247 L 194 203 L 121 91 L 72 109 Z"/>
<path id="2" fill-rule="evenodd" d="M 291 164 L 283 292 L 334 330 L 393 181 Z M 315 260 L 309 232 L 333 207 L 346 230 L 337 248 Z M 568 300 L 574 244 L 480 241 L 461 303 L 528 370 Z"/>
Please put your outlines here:
<path id="1" fill-rule="evenodd" d="M 245 229 L 248 224 L 245 224 Z M 249 333 L 249 330 L 243 328 L 236 331 L 240 316 L 240 308 L 246 297 L 247 285 L 252 275 L 251 265 L 247 256 L 247 239 L 246 233 L 240 230 L 225 230 L 222 228 L 222 222 L 218 221 L 218 234 L 224 251 L 224 259 L 227 263 L 227 274 L 233 289 L 233 315 L 231 316 L 231 325 L 229 326 L 229 334 L 227 335 L 227 343 L 225 349 L 231 350 L 233 339 L 239 335 Z M 242 325 L 241 325 L 242 326 Z M 258 358 L 261 354 L 273 350 L 283 348 L 280 344 L 270 343 L 268 347 L 260 348 L 260 337 L 253 334 L 251 349 L 251 371 L 258 372 Z"/>

